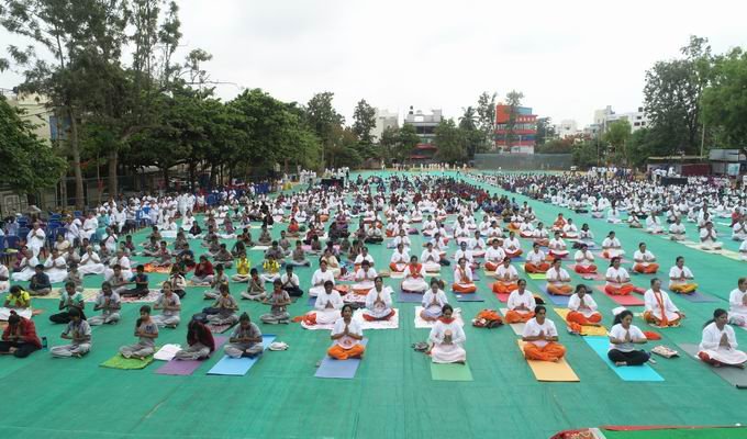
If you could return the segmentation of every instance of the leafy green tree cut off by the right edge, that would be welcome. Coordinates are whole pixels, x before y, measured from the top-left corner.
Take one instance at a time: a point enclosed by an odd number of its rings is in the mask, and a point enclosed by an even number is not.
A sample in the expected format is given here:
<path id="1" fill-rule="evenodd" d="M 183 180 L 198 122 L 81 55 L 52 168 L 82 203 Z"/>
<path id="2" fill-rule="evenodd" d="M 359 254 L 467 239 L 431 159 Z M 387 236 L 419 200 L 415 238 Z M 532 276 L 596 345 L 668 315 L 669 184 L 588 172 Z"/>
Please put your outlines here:
<path id="1" fill-rule="evenodd" d="M 716 58 L 702 105 L 703 122 L 718 131 L 721 142 L 747 146 L 747 52 L 735 48 Z"/>

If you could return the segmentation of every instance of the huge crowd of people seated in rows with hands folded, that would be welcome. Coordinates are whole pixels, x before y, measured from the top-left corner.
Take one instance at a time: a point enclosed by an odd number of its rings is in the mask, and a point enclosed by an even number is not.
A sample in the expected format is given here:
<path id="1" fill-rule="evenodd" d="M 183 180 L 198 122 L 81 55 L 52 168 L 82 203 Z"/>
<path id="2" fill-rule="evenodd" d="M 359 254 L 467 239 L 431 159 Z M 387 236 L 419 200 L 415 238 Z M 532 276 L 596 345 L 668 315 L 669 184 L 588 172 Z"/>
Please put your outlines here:
<path id="1" fill-rule="evenodd" d="M 715 245 L 717 238 L 709 232 L 711 206 L 715 205 L 714 215 L 734 218 L 735 226 L 744 224 L 743 193 L 717 181 L 662 188 L 628 178 L 600 183 L 595 178 L 572 175 L 476 178 L 577 212 L 604 214 L 609 210 L 606 217 L 613 221 L 617 210 L 654 217 L 671 211 L 672 224 L 693 215 L 705 230 L 703 245 Z M 517 266 L 527 275 L 544 274 L 548 294 L 569 296 L 565 324 L 577 333 L 583 326 L 600 326 L 603 318 L 591 289 L 573 284 L 568 270 L 584 279 L 601 275 L 604 291 L 611 295 L 638 291 L 621 266 L 626 252 L 613 232 L 599 243 L 588 224 L 578 228 L 561 214 L 545 225 L 528 203 L 520 205 L 460 178 L 394 173 L 384 180 L 359 175 L 347 178 L 343 185 L 277 196 L 230 190 L 213 196 L 213 203 L 191 193 L 109 200 L 85 217 L 64 218 L 65 230 L 52 245 L 42 222 L 34 222 L 18 258 L 9 267 L 0 266 L 0 289 L 9 290 L 4 302 L 8 326 L 0 352 L 26 357 L 42 347 L 31 297 L 52 294 L 55 283 L 64 286 L 59 313 L 49 319 L 65 325 L 62 338 L 69 340 L 52 348 L 56 357 L 85 356 L 92 347 L 91 326 L 118 324 L 123 302 L 146 297 L 152 297 L 152 304 L 140 308 L 134 322 L 136 340 L 122 346 L 120 353 L 126 358 L 152 356 L 159 330 L 180 326 L 187 286 L 196 285 L 210 306 L 188 319 L 187 345 L 177 359 L 209 357 L 215 349 L 212 334 L 227 328 L 233 331 L 225 354 L 261 354 L 260 326 L 246 309 L 242 312 L 242 301 L 269 306 L 256 319 L 263 325 L 298 322 L 306 328 L 325 327 L 331 330 L 331 357 L 361 358 L 365 327 L 397 318 L 393 284 L 422 297 L 417 317 L 432 327 L 426 351 L 433 362 L 441 363 L 467 360 L 462 320 L 446 292 L 476 294 L 479 269 L 494 277 L 492 292 L 508 296 L 505 322 L 525 323 L 524 354 L 531 360 L 560 361 L 566 347 L 559 342 L 547 305 L 527 290 Z M 258 223 L 255 239 L 252 230 Z M 149 233 L 145 243 L 136 245 L 133 234 L 144 224 L 150 227 Z M 12 233 L 12 222 L 7 224 L 5 233 Z M 655 229 L 657 224 L 647 221 L 647 227 Z M 657 229 L 664 232 L 664 227 Z M 423 238 L 422 249 L 411 239 L 415 235 Z M 370 246 L 390 249 L 389 261 L 375 260 Z M 253 248 L 263 251 L 256 266 L 248 259 Z M 601 258 L 609 261 L 603 274 L 598 273 L 599 261 L 590 248 L 600 248 Z M 135 257 L 144 261 L 134 263 Z M 523 261 L 517 262 L 519 258 Z M 684 313 L 656 277 L 664 262 L 646 243 L 638 245 L 633 259 L 634 271 L 655 275 L 649 289 L 638 291 L 645 299 L 644 319 L 660 327 L 681 325 Z M 302 285 L 297 270 L 313 272 L 311 282 Z M 453 278 L 447 281 L 444 273 L 449 272 Z M 168 279 L 152 285 L 148 273 L 165 273 Z M 102 280 L 91 311 L 82 294 L 87 275 Z M 390 285 L 386 278 L 392 279 Z M 696 288 L 683 258 L 672 261 L 666 281 L 676 294 L 689 294 Z M 231 288 L 237 283 L 246 283 L 246 288 L 234 294 Z M 292 317 L 288 307 L 306 294 L 314 297 L 313 309 Z M 736 349 L 729 324 L 747 324 L 747 280 L 739 280 L 729 304 L 728 311 L 716 309 L 713 322 L 703 329 L 700 357 L 714 365 L 744 367 L 747 356 Z M 609 357 L 621 367 L 653 361 L 636 346 L 647 339 L 632 320 L 629 311 L 621 311 L 609 333 Z"/>

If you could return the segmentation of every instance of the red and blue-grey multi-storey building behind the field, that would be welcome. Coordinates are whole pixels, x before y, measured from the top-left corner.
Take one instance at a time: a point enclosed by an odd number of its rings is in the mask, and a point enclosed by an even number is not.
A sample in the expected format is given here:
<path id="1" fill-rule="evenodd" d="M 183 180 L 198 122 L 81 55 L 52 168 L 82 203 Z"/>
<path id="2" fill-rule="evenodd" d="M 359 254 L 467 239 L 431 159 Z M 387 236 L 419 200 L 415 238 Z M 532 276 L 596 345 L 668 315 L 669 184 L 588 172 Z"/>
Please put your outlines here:
<path id="1" fill-rule="evenodd" d="M 537 115 L 532 109 L 517 106 L 513 127 L 513 137 L 509 139 L 509 121 L 511 105 L 495 105 L 495 149 L 511 154 L 534 154 L 537 137 Z M 509 142 L 510 148 L 509 150 Z"/>

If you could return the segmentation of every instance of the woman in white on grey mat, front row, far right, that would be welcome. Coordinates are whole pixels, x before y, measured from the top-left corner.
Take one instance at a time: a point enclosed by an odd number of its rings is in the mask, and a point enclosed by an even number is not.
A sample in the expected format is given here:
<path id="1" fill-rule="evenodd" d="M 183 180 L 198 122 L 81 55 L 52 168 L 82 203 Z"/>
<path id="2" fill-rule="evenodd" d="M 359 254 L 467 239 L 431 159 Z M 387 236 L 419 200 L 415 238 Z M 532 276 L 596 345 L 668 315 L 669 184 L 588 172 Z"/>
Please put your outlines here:
<path id="1" fill-rule="evenodd" d="M 713 319 L 705 324 L 703 338 L 699 346 L 698 357 L 716 368 L 736 365 L 745 368 L 747 353 L 737 349 L 737 338 L 734 328 L 727 325 L 728 313 L 717 308 L 713 312 Z"/>

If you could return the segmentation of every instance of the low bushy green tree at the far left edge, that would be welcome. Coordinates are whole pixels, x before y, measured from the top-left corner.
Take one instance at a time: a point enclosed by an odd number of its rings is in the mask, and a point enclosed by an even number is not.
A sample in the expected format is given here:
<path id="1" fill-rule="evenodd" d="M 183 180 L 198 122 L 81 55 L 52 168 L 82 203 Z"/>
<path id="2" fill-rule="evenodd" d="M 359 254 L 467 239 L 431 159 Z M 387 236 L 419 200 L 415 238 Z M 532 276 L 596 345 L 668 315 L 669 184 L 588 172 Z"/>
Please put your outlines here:
<path id="1" fill-rule="evenodd" d="M 31 195 L 54 187 L 66 165 L 20 114 L 0 95 L 0 185 Z"/>

